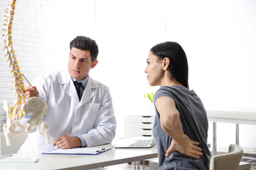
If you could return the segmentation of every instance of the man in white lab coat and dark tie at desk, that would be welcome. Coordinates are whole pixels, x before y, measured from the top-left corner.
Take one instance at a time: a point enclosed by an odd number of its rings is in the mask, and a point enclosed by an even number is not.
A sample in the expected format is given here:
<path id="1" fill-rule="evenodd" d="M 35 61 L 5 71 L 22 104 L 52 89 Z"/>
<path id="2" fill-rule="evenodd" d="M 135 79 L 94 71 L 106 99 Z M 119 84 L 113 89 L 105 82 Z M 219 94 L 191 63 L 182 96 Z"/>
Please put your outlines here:
<path id="1" fill-rule="evenodd" d="M 28 99 L 37 96 L 48 105 L 49 113 L 42 122 L 49 124 L 50 144 L 45 144 L 36 129 L 28 135 L 18 153 L 112 142 L 116 135 L 116 118 L 110 91 L 89 76 L 98 63 L 97 56 L 96 42 L 77 36 L 70 42 L 68 72 L 38 76 L 33 87 L 26 87 Z"/>

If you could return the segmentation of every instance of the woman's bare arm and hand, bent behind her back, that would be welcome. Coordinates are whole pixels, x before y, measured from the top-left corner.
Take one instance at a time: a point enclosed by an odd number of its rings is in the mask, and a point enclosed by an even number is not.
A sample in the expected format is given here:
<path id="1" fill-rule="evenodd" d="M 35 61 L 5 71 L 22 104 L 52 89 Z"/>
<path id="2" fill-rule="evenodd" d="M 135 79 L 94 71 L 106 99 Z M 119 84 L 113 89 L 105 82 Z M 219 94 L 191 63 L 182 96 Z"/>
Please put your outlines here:
<path id="1" fill-rule="evenodd" d="M 162 96 L 155 101 L 156 109 L 160 114 L 161 128 L 167 135 L 173 138 L 166 156 L 173 151 L 179 151 L 181 154 L 192 158 L 200 158 L 202 148 L 196 146 L 196 141 L 189 139 L 182 130 L 179 111 L 175 107 L 175 101 L 171 97 Z"/>

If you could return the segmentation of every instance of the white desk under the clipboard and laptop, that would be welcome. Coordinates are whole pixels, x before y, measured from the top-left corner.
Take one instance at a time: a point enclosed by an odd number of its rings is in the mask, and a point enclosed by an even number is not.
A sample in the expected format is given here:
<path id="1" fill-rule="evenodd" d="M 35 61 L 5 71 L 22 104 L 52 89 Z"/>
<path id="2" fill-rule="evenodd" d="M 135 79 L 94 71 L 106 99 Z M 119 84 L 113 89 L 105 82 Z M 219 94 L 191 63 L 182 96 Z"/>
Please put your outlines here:
<path id="1" fill-rule="evenodd" d="M 96 146 L 111 148 L 112 144 Z M 37 163 L 0 163 L 0 169 L 93 169 L 119 163 L 158 158 L 156 144 L 152 148 L 112 148 L 98 155 L 45 155 L 41 152 L 29 153 L 38 158 Z"/>

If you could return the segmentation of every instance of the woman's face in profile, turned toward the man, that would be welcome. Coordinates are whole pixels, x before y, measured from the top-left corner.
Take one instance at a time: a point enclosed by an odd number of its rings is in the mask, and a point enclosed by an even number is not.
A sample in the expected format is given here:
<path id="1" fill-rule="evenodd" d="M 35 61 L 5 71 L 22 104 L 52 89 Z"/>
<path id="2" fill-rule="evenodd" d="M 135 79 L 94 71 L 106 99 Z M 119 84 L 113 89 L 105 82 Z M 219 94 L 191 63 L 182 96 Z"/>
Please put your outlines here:
<path id="1" fill-rule="evenodd" d="M 160 86 L 164 73 L 163 62 L 161 62 L 158 59 L 158 56 L 154 55 L 152 52 L 148 54 L 146 62 L 148 65 L 144 72 L 148 78 L 148 83 L 150 86 Z"/>

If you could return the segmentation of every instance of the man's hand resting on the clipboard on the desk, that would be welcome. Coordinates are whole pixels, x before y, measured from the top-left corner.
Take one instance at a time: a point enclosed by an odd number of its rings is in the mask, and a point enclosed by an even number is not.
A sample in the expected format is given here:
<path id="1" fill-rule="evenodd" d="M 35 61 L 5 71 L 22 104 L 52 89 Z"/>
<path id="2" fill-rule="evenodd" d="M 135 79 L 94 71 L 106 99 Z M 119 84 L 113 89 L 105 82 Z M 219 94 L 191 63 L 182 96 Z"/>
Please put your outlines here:
<path id="1" fill-rule="evenodd" d="M 77 148 L 82 146 L 82 142 L 79 137 L 62 135 L 53 140 L 53 146 L 58 146 L 61 149 Z"/>

